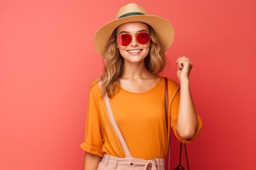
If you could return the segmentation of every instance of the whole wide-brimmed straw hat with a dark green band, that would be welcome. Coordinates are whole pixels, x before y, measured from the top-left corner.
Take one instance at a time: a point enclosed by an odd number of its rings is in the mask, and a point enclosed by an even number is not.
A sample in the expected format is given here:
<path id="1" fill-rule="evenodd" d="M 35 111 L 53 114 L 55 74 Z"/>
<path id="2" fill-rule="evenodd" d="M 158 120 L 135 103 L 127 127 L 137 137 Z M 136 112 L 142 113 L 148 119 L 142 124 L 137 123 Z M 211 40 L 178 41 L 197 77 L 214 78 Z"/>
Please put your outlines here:
<path id="1" fill-rule="evenodd" d="M 127 22 L 145 22 L 149 24 L 155 30 L 163 50 L 167 51 L 167 49 L 170 48 L 174 36 L 172 24 L 165 18 L 148 15 L 144 8 L 138 4 L 131 3 L 121 7 L 117 13 L 116 19 L 101 26 L 94 35 L 94 46 L 101 56 L 106 53 L 107 44 L 112 32 L 117 26 Z"/>

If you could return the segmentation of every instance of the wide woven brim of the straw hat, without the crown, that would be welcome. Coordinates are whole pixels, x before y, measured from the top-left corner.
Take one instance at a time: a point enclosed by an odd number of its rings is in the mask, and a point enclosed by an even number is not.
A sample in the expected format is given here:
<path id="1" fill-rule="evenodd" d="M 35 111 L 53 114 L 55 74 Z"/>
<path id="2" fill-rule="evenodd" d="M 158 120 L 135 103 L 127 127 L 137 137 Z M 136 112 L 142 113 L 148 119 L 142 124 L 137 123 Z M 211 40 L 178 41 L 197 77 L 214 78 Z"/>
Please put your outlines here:
<path id="1" fill-rule="evenodd" d="M 101 56 L 106 53 L 107 44 L 113 31 L 119 25 L 128 22 L 144 22 L 149 24 L 155 30 L 164 52 L 170 48 L 174 38 L 174 30 L 172 24 L 168 20 L 155 15 L 132 15 L 110 21 L 101 26 L 95 33 L 94 46 Z"/>

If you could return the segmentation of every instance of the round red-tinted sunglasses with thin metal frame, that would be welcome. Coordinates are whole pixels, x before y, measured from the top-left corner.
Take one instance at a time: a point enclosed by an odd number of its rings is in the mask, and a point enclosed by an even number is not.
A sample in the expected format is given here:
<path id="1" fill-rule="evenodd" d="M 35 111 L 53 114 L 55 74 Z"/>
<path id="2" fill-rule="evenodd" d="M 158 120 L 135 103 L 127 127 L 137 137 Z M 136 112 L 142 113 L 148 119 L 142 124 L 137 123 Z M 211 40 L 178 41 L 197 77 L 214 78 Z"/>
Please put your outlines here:
<path id="1" fill-rule="evenodd" d="M 126 33 L 118 36 L 118 42 L 122 46 L 127 46 L 132 41 L 132 35 L 135 33 Z M 140 32 L 136 35 L 136 40 L 140 44 L 147 44 L 150 40 L 150 35 L 147 32 Z"/>

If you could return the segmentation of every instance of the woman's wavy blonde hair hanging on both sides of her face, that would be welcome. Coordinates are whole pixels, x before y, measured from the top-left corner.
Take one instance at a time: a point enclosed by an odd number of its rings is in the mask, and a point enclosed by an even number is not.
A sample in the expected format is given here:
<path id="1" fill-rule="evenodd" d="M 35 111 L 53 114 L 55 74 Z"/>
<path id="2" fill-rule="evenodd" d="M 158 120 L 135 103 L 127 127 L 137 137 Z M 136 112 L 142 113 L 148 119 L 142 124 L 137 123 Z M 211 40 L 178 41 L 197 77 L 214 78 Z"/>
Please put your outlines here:
<path id="1" fill-rule="evenodd" d="M 148 56 L 145 58 L 145 66 L 150 73 L 157 75 L 164 69 L 166 56 L 154 29 L 150 25 L 148 25 L 148 29 L 151 36 L 151 47 Z M 107 51 L 103 56 L 105 75 L 99 77 L 99 80 L 102 81 L 102 93 L 107 93 L 110 98 L 120 90 L 119 78 L 124 68 L 124 58 L 119 53 L 116 43 L 117 29 L 115 29 L 110 36 Z"/>

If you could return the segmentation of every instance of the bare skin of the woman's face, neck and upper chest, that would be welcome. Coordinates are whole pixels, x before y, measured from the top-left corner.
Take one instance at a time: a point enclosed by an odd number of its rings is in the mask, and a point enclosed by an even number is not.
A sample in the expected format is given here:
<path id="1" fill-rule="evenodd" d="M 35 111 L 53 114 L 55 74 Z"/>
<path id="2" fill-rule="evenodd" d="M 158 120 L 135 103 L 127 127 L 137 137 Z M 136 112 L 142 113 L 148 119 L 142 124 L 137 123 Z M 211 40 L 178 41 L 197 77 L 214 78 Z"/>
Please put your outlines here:
<path id="1" fill-rule="evenodd" d="M 149 32 L 148 26 L 142 22 L 129 22 L 117 28 L 117 37 L 125 33 Z M 136 35 L 136 34 L 132 34 Z M 117 48 L 124 58 L 124 72 L 119 79 L 121 88 L 127 91 L 141 93 L 148 91 L 155 86 L 159 77 L 150 73 L 144 64 L 144 60 L 150 50 L 150 42 L 140 44 L 136 36 L 132 36 L 132 41 L 127 46 L 122 46 L 117 42 Z M 141 50 L 138 53 L 130 53 L 129 50 Z"/>

